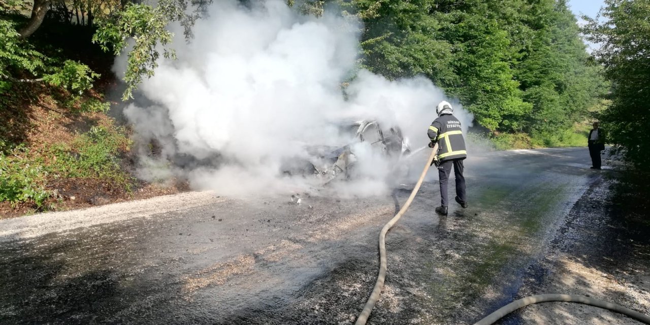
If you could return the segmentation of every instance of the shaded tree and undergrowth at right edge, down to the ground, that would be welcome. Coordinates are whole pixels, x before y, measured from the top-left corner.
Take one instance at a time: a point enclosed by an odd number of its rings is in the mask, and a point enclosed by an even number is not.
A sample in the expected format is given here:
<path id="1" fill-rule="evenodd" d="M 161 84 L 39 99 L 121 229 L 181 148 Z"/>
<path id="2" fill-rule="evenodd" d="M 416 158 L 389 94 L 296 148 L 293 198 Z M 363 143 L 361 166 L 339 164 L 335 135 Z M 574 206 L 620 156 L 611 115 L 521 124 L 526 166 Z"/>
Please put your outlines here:
<path id="1" fill-rule="evenodd" d="M 625 161 L 616 200 L 630 225 L 644 223 L 650 197 L 650 0 L 605 0 L 597 18 L 586 18 L 593 56 L 612 83 L 607 109 L 597 117 L 614 154 Z M 631 226 L 630 226 L 631 227 Z"/>

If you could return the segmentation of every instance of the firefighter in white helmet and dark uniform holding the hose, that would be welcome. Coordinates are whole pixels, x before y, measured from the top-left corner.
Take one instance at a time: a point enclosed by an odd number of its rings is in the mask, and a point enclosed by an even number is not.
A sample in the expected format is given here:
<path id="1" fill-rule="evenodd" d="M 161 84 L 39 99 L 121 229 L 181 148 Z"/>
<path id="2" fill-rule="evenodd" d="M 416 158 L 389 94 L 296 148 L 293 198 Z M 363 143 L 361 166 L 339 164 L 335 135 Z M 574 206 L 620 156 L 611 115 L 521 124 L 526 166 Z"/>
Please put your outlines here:
<path id="1" fill-rule="evenodd" d="M 428 136 L 431 140 L 429 147 L 434 148 L 438 144 L 437 161 L 440 176 L 440 197 L 441 205 L 435 208 L 435 212 L 447 215 L 448 197 L 447 183 L 452 167 L 456 178 L 456 202 L 461 207 L 467 207 L 465 196 L 465 177 L 463 177 L 463 159 L 467 158 L 465 150 L 465 138 L 460 128 L 460 121 L 452 115 L 454 109 L 447 101 L 441 101 L 435 108 L 438 118 L 429 127 Z"/>

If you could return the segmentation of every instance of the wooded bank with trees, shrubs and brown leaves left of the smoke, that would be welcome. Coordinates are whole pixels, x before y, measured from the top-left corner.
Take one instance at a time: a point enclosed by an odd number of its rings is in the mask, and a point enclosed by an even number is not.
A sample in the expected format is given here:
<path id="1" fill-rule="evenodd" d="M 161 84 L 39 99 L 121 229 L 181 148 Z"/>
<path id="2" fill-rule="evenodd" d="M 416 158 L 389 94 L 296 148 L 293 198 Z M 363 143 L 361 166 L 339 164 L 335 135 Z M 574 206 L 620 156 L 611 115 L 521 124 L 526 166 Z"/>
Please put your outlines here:
<path id="1" fill-rule="evenodd" d="M 46 1 L 31 31 L 32 3 L 0 1 L 0 218 L 172 191 L 133 177 L 128 126 L 107 115 L 114 57 L 92 43 L 110 3 L 88 5 Z"/>

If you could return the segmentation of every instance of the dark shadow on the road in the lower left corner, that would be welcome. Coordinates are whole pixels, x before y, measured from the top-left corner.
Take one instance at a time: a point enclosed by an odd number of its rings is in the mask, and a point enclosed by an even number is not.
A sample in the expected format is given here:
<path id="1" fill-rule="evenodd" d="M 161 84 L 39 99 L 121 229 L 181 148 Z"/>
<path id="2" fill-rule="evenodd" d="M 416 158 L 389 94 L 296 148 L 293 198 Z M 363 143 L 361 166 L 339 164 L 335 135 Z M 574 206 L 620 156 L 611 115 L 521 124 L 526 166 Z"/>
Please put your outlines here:
<path id="1" fill-rule="evenodd" d="M 101 318 L 112 305 L 118 289 L 110 270 L 71 272 L 70 263 L 60 258 L 76 245 L 70 242 L 47 248 L 34 241 L 13 242 L 0 249 L 0 323 L 70 323 L 83 315 L 88 322 Z"/>

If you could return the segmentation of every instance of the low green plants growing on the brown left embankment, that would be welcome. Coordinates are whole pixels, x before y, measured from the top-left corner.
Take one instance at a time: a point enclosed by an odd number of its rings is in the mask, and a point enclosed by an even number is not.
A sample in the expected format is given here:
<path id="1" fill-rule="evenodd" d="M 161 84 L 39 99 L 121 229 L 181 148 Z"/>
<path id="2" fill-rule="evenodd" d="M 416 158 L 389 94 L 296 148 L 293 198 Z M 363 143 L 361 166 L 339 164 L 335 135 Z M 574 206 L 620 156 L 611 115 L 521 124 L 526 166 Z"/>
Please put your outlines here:
<path id="1" fill-rule="evenodd" d="M 51 112 L 44 122 L 60 123 L 57 119 L 62 119 L 61 114 Z M 59 179 L 98 179 L 130 192 L 134 179 L 120 165 L 131 146 L 127 129 L 107 116 L 89 119 L 88 123 L 88 131 L 73 133 L 70 138 L 59 136 L 60 140 L 41 145 L 23 142 L 5 146 L 0 152 L 0 201 L 13 206 L 30 203 L 36 211 L 55 209 L 56 193 L 47 185 Z M 45 136 L 41 136 L 42 141 L 47 141 Z"/>

